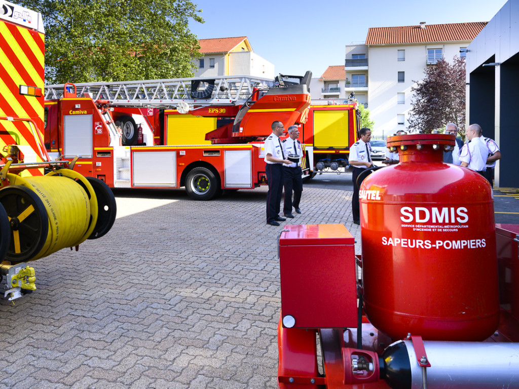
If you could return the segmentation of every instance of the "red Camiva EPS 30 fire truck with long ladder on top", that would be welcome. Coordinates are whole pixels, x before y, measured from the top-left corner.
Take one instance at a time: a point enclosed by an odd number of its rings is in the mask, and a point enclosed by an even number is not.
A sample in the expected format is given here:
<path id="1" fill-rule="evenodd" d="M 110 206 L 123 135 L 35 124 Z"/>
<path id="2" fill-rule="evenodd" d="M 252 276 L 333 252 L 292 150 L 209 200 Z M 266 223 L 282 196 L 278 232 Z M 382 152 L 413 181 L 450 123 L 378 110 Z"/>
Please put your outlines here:
<path id="1" fill-rule="evenodd" d="M 196 200 L 266 183 L 271 123 L 304 123 L 304 77 L 102 82 L 45 89 L 51 158 L 114 188 L 179 188 Z M 189 120 L 198 118 L 194 126 Z M 190 133 L 193 132 L 194 134 Z M 184 141 L 184 142 L 183 142 Z"/>

